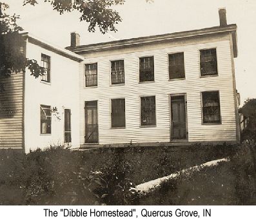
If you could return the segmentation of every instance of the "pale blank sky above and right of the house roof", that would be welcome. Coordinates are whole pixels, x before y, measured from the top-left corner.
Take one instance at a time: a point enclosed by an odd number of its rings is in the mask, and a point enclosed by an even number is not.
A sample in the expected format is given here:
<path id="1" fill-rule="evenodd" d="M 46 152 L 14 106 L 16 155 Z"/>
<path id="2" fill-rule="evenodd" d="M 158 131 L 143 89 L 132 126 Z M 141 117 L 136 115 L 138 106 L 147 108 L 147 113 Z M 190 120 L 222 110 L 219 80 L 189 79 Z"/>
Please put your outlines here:
<path id="1" fill-rule="evenodd" d="M 237 24 L 238 57 L 235 58 L 237 90 L 241 106 L 247 98 L 256 98 L 256 1 L 255 0 L 126 0 L 115 6 L 123 21 L 118 32 L 105 35 L 97 29 L 89 33 L 79 13 L 59 15 L 49 3 L 23 6 L 23 0 L 3 0 L 9 14 L 21 16 L 19 25 L 57 46 L 70 46 L 70 32 L 81 35 L 81 44 L 101 43 L 147 35 L 180 32 L 219 25 L 218 8 L 226 8 L 228 24 Z"/>

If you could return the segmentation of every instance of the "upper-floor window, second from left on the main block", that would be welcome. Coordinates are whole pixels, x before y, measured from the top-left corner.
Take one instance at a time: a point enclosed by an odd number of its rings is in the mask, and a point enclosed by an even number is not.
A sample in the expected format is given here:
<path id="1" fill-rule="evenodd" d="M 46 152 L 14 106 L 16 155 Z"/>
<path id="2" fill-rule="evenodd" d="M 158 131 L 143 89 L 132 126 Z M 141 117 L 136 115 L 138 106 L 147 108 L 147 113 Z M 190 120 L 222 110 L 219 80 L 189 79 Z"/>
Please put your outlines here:
<path id="1" fill-rule="evenodd" d="M 111 83 L 124 84 L 124 61 L 111 62 Z"/>

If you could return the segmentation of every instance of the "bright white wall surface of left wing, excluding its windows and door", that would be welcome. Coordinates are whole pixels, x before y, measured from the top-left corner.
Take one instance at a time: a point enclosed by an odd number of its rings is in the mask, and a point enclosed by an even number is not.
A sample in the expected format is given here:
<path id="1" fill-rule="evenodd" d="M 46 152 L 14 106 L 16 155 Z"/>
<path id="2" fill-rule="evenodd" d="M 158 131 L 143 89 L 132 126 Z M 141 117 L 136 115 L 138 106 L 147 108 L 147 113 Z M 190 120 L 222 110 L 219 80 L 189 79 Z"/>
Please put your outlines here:
<path id="1" fill-rule="evenodd" d="M 25 76 L 25 151 L 64 143 L 64 108 L 71 109 L 72 148 L 79 146 L 79 62 L 27 43 L 26 57 L 41 64 L 41 53 L 51 57 L 51 82 Z M 52 134 L 40 134 L 40 105 L 57 107 L 61 120 L 52 116 Z"/>

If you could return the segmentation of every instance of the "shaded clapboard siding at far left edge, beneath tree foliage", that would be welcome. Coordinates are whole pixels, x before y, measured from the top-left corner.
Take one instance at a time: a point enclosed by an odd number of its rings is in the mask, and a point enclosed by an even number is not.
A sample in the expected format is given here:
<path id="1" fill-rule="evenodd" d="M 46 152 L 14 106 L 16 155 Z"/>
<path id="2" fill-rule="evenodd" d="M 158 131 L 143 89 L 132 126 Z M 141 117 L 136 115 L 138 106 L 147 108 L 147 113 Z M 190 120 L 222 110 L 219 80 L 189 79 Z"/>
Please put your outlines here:
<path id="1" fill-rule="evenodd" d="M 0 102 L 14 113 L 1 116 L 0 112 L 0 148 L 23 149 L 23 73 L 12 73 L 3 82 Z"/>

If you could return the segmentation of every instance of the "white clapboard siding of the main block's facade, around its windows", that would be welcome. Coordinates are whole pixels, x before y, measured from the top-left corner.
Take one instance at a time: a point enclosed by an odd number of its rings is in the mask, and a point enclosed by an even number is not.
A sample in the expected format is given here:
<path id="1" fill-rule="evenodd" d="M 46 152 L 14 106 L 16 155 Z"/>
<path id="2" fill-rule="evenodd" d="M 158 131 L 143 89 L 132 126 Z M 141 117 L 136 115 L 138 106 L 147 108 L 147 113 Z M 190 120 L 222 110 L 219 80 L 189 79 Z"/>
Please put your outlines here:
<path id="1" fill-rule="evenodd" d="M 170 141 L 170 94 L 186 93 L 188 140 L 236 140 L 235 94 L 228 33 L 219 38 L 198 37 L 182 43 L 155 44 L 143 48 L 81 54 L 85 63 L 97 62 L 97 88 L 84 87 L 84 69 L 80 70 L 80 142 L 84 144 L 84 101 L 98 100 L 99 144 Z M 203 42 L 203 43 L 202 43 Z M 154 48 L 152 50 L 152 48 Z M 205 48 L 217 48 L 218 76 L 200 77 L 200 53 Z M 186 79 L 168 81 L 168 53 L 184 52 Z M 155 82 L 139 83 L 139 57 L 154 57 Z M 124 59 L 125 85 L 110 84 L 110 61 Z M 220 93 L 222 124 L 202 125 L 201 92 Z M 140 127 L 140 97 L 155 95 L 156 127 Z M 125 98 L 126 128 L 112 129 L 110 101 Z"/>

